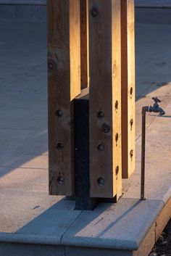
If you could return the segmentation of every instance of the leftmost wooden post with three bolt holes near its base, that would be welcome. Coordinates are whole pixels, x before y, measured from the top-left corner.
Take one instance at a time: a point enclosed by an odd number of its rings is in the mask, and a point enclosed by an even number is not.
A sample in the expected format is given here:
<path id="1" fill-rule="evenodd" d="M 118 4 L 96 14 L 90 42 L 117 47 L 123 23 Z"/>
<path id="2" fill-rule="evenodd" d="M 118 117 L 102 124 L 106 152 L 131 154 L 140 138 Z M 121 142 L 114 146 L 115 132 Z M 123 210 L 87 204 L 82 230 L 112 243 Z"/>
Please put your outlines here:
<path id="1" fill-rule="evenodd" d="M 73 99 L 80 94 L 80 0 L 48 0 L 49 193 L 74 193 Z"/>

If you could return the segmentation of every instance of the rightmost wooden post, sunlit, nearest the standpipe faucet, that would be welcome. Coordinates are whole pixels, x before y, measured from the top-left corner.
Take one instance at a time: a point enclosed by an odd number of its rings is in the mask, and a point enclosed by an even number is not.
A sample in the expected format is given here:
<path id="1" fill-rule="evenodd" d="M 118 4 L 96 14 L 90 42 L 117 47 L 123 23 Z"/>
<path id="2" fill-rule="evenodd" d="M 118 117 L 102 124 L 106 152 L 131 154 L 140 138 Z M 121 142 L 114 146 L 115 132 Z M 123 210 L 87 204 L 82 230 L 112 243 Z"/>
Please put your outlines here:
<path id="1" fill-rule="evenodd" d="M 121 0 L 122 178 L 135 170 L 135 22 L 134 0 Z"/>

